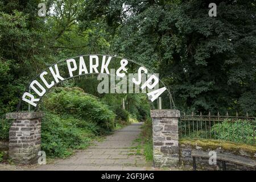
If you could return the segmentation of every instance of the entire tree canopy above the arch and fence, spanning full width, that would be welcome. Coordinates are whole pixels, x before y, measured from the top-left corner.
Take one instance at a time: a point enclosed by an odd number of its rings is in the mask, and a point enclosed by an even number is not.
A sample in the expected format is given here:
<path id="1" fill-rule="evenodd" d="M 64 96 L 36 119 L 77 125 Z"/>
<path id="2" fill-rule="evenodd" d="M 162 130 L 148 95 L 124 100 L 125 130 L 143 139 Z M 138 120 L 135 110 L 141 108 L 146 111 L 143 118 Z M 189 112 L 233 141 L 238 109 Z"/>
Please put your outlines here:
<path id="1" fill-rule="evenodd" d="M 38 3 L 0 3 L 0 114 L 15 110 L 46 65 L 86 53 L 130 57 L 159 72 L 178 109 L 255 114 L 254 0 L 216 1 L 217 17 L 203 0 L 48 0 L 45 17 Z"/>

